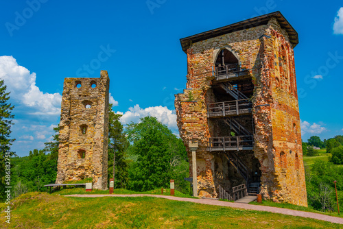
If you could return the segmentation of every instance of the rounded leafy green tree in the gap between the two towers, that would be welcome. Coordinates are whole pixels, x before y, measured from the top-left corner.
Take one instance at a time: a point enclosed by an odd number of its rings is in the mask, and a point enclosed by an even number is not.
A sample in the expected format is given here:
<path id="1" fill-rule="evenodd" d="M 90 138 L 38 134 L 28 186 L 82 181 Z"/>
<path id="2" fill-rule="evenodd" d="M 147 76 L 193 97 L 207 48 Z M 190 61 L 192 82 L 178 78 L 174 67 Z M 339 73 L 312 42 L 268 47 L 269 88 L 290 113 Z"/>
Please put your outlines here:
<path id="1" fill-rule="evenodd" d="M 137 161 L 130 166 L 130 189 L 148 191 L 168 186 L 174 167 L 182 164 L 179 162 L 187 155 L 183 144 L 154 117 L 130 123 L 126 133 L 132 142 L 130 151 L 137 155 Z M 183 172 L 183 177 L 188 176 L 187 171 Z"/>

